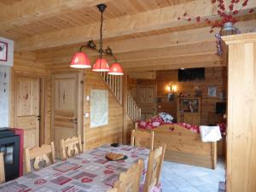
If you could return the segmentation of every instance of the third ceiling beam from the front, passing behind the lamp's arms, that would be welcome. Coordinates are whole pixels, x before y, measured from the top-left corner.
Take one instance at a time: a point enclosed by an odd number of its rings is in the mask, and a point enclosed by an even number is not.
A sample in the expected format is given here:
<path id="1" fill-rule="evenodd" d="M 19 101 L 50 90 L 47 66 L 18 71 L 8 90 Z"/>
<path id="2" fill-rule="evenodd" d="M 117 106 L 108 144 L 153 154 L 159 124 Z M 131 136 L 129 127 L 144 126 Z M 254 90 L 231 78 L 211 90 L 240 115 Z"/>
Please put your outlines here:
<path id="1" fill-rule="evenodd" d="M 247 32 L 256 26 L 256 20 L 238 22 L 236 24 L 241 32 Z M 171 32 L 143 38 L 130 38 L 119 41 L 107 42 L 113 49 L 114 55 L 119 61 L 147 59 L 147 57 L 162 57 L 162 55 L 189 55 L 201 52 L 215 51 L 214 33 L 208 32 L 209 28 L 187 30 L 183 32 Z M 46 49 L 38 51 L 38 60 L 53 61 L 70 60 L 72 55 L 79 50 L 81 44 L 61 47 L 58 49 Z M 83 49 L 90 56 L 98 55 L 93 49 Z M 130 59 L 131 57 L 131 59 Z"/>

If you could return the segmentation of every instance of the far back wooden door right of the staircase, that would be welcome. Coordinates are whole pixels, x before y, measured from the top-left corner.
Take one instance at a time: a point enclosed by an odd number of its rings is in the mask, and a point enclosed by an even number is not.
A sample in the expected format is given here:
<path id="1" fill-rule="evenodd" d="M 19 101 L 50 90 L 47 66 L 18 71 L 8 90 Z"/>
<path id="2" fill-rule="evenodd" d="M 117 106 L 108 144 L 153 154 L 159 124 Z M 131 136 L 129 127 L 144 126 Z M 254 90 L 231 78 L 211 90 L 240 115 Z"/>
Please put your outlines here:
<path id="1" fill-rule="evenodd" d="M 142 108 L 142 119 L 149 119 L 157 113 L 156 84 L 138 86 L 138 105 Z"/>

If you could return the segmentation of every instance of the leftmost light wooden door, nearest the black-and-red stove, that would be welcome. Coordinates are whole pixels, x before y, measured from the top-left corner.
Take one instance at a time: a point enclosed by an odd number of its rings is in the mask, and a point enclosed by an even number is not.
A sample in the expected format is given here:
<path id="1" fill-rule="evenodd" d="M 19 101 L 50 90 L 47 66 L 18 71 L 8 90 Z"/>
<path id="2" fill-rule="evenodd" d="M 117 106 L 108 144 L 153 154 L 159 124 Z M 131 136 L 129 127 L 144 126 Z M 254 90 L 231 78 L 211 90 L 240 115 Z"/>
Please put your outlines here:
<path id="1" fill-rule="evenodd" d="M 15 76 L 15 127 L 24 129 L 24 147 L 39 146 L 40 79 Z"/>

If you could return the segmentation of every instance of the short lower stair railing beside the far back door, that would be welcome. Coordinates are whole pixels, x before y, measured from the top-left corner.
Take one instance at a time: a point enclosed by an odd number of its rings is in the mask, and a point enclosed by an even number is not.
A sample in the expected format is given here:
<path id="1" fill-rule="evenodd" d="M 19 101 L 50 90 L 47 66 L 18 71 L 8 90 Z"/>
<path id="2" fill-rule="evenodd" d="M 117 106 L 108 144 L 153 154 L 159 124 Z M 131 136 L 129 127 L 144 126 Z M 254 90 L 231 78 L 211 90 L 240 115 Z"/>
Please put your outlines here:
<path id="1" fill-rule="evenodd" d="M 141 119 L 142 109 L 137 106 L 137 103 L 131 95 L 127 95 L 127 115 L 136 122 Z"/>

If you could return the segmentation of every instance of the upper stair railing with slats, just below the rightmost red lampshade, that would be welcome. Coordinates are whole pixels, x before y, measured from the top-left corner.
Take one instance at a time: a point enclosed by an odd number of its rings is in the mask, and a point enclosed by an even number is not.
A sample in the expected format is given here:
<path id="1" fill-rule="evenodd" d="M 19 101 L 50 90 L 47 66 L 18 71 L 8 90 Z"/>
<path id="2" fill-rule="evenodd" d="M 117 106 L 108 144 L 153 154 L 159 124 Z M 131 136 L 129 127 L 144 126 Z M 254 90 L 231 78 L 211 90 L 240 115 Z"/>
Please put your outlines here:
<path id="1" fill-rule="evenodd" d="M 108 75 L 107 72 L 101 72 L 102 79 L 112 91 L 117 101 L 123 103 L 123 77 L 121 75 Z"/>

